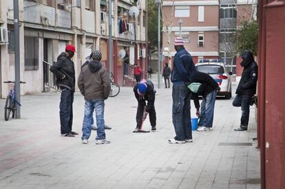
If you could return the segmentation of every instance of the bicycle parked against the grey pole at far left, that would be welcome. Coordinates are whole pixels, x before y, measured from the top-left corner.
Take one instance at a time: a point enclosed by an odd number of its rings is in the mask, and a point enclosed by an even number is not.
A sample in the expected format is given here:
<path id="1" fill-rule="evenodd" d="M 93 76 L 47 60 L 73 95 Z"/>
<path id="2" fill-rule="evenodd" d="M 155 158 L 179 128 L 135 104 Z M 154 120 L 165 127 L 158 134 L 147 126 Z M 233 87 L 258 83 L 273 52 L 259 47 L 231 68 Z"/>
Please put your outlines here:
<path id="1" fill-rule="evenodd" d="M 4 81 L 4 83 L 15 83 L 15 82 L 8 80 L 8 81 Z M 20 83 L 25 83 L 25 82 L 20 81 Z M 6 121 L 9 120 L 11 112 L 12 112 L 12 118 L 15 118 L 16 103 L 21 106 L 21 104 L 18 102 L 15 96 L 16 96 L 16 93 L 15 93 L 15 85 L 14 85 L 6 98 L 5 112 L 4 112 L 5 113 L 4 117 Z"/>

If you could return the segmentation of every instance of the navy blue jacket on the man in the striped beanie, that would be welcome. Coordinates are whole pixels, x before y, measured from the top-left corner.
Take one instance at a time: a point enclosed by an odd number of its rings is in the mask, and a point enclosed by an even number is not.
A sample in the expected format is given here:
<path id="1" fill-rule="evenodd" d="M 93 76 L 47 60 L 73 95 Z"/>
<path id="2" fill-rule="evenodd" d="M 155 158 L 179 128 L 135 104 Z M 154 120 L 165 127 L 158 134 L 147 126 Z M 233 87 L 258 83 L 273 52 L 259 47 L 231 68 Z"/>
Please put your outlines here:
<path id="1" fill-rule="evenodd" d="M 196 71 L 192 56 L 186 49 L 181 48 L 174 55 L 171 82 L 190 82 L 190 75 Z"/>

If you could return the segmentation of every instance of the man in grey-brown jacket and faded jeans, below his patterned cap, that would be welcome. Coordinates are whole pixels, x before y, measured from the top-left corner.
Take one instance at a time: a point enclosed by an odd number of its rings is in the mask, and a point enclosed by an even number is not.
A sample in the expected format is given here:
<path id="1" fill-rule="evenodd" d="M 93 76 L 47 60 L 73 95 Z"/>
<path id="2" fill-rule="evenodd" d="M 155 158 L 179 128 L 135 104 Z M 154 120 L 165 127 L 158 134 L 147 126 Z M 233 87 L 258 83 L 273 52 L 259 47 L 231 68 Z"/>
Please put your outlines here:
<path id="1" fill-rule="evenodd" d="M 104 108 L 110 92 L 110 80 L 107 69 L 98 60 L 91 60 L 82 67 L 78 78 L 78 88 L 85 97 L 82 143 L 87 144 L 91 134 L 94 109 L 96 111 L 96 144 L 109 144 L 105 135 Z"/>

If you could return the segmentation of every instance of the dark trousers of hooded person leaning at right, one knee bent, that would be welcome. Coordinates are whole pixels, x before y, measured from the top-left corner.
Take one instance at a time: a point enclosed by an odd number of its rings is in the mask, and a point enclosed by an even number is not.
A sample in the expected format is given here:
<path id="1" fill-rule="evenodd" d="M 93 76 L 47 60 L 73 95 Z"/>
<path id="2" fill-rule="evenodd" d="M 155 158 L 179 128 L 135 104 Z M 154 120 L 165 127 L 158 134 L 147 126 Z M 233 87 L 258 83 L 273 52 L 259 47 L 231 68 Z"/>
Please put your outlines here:
<path id="1" fill-rule="evenodd" d="M 235 96 L 233 100 L 234 107 L 242 107 L 242 118 L 240 118 L 240 126 L 247 128 L 249 125 L 249 106 L 251 104 L 252 95 L 243 94 Z"/>

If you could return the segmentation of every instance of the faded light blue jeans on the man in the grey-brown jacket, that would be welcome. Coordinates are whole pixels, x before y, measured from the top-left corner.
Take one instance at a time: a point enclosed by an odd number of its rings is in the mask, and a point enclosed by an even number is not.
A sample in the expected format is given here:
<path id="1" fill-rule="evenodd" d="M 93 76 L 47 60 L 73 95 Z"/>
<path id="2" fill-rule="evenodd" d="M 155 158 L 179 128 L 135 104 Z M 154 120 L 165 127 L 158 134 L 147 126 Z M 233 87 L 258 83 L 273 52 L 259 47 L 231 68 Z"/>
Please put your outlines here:
<path id="1" fill-rule="evenodd" d="M 103 99 L 86 99 L 85 111 L 83 119 L 83 135 L 82 139 L 89 139 L 91 135 L 91 124 L 93 120 L 94 109 L 96 112 L 96 124 L 97 124 L 97 137 L 96 140 L 105 139 L 105 121 L 104 121 L 104 108 L 105 103 Z"/>

